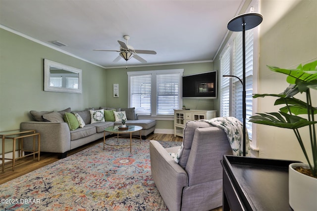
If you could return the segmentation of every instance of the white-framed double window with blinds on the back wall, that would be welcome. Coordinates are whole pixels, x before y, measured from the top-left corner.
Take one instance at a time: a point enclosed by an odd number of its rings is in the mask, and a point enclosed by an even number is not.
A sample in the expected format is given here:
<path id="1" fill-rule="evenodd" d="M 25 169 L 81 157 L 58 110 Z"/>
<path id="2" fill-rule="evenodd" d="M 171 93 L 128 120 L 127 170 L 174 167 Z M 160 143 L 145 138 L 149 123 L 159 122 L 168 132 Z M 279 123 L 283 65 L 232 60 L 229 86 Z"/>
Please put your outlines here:
<path id="1" fill-rule="evenodd" d="M 138 115 L 174 115 L 181 107 L 182 69 L 128 72 L 128 105 Z"/>

